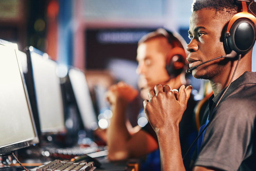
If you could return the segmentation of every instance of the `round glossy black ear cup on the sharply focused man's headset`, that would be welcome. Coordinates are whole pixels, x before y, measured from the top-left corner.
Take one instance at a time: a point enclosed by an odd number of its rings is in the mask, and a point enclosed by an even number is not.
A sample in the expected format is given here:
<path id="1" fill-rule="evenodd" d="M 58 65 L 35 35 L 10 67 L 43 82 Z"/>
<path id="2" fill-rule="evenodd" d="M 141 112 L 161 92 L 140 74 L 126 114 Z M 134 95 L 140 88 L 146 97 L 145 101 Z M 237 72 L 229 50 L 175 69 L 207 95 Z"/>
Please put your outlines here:
<path id="1" fill-rule="evenodd" d="M 239 18 L 231 26 L 229 33 L 227 28 L 224 34 L 224 44 L 227 51 L 234 50 L 237 54 L 244 55 L 254 46 L 256 33 L 255 26 L 248 18 Z"/>

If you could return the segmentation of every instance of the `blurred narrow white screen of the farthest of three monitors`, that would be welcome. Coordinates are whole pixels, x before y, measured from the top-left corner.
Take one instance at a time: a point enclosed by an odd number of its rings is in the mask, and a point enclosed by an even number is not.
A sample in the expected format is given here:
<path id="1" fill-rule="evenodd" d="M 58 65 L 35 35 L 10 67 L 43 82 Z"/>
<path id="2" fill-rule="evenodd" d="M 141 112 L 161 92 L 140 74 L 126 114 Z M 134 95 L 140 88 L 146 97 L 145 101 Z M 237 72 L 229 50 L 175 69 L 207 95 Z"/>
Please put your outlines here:
<path id="1" fill-rule="evenodd" d="M 97 128 L 96 114 L 93 108 L 89 87 L 84 73 L 78 69 L 69 69 L 68 76 L 76 98 L 79 113 L 86 129 Z"/>

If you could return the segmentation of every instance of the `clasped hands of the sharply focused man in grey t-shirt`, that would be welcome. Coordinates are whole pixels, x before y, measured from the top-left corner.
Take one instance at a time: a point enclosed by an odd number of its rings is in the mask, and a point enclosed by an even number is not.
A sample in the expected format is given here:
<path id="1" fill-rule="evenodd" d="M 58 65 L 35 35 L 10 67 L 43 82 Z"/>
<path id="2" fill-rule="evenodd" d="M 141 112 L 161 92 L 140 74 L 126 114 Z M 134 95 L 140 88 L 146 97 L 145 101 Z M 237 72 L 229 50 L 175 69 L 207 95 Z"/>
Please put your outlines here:
<path id="1" fill-rule="evenodd" d="M 178 126 L 182 115 L 186 109 L 192 86 L 181 86 L 179 92 L 165 85 L 155 86 L 155 92 L 148 92 L 150 100 L 144 100 L 144 110 L 148 120 L 156 133 L 160 129 L 168 129 Z"/>

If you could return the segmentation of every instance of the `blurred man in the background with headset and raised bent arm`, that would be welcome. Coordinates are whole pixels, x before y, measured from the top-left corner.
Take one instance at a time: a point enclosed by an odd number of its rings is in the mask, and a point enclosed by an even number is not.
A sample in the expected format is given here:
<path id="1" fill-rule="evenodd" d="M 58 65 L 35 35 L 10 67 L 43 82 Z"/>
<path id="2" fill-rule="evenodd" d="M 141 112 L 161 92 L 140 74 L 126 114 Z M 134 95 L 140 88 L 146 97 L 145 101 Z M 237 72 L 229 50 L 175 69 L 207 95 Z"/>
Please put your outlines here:
<path id="1" fill-rule="evenodd" d="M 168 84 L 174 89 L 187 84 L 184 71 L 186 52 L 183 42 L 180 35 L 174 36 L 162 28 L 145 35 L 138 42 L 136 71 L 140 75 L 138 86 L 141 89 L 142 99 L 148 98 L 148 91 L 153 90 L 156 84 L 163 86 Z M 177 92 L 177 90 L 173 91 Z M 138 126 L 132 128 L 126 124 L 127 104 L 133 101 L 137 94 L 137 90 L 123 82 L 111 86 L 107 92 L 107 99 L 113 112 L 107 130 L 110 160 L 144 156 L 158 149 L 156 133 L 149 123 L 142 129 Z M 196 135 L 196 127 L 192 119 L 195 104 L 191 96 L 179 125 L 182 153 L 188 149 L 189 139 L 193 139 Z M 187 165 L 188 162 L 189 160 L 185 161 Z"/>

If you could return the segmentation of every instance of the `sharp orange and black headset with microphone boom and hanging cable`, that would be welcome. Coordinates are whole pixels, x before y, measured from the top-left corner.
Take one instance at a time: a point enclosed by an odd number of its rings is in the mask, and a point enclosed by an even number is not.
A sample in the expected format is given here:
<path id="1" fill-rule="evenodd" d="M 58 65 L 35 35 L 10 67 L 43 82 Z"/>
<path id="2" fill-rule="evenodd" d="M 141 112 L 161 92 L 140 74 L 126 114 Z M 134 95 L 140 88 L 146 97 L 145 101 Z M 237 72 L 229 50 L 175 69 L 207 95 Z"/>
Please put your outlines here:
<path id="1" fill-rule="evenodd" d="M 196 69 L 198 66 L 213 61 L 215 59 L 219 58 L 235 58 L 238 56 L 238 62 L 236 65 L 236 68 L 234 70 L 233 76 L 229 82 L 229 85 L 227 86 L 226 90 L 223 92 L 221 98 L 217 102 L 215 108 L 219 104 L 220 100 L 222 99 L 223 95 L 228 90 L 234 74 L 236 72 L 238 63 L 242 57 L 242 55 L 247 54 L 254 46 L 255 39 L 256 39 L 256 17 L 255 14 L 251 11 L 250 5 L 253 3 L 252 1 L 248 0 L 237 0 L 237 3 L 242 4 L 242 12 L 237 13 L 234 15 L 231 20 L 229 21 L 228 25 L 225 27 L 225 33 L 224 33 L 224 48 L 229 53 L 225 56 L 217 57 L 214 59 L 211 59 L 209 61 L 203 62 L 197 66 L 194 66 L 190 69 L 187 69 L 186 72 L 191 74 L 194 69 Z M 251 2 L 249 4 L 249 10 L 254 14 L 248 13 L 247 10 L 247 2 Z M 211 123 L 211 122 L 209 122 Z M 202 135 L 202 133 L 205 131 L 205 129 L 208 127 L 209 123 L 204 127 L 202 131 L 200 131 L 199 135 L 196 137 L 196 139 L 193 141 L 193 143 L 190 145 L 188 151 L 192 148 L 192 146 L 195 144 L 195 142 L 198 140 L 198 138 Z M 183 156 L 183 159 L 185 158 L 186 154 Z"/>

